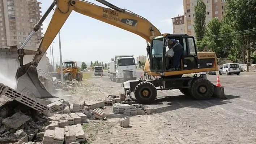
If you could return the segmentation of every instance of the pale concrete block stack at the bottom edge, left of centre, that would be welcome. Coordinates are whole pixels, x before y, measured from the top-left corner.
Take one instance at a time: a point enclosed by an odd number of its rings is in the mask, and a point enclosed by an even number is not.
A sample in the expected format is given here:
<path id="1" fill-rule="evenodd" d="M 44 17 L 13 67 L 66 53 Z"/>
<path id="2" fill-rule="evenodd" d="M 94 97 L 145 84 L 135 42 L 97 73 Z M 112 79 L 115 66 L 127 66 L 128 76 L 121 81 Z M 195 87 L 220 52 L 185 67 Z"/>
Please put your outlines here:
<path id="1" fill-rule="evenodd" d="M 65 126 L 64 128 L 55 127 L 54 130 L 46 130 L 43 136 L 43 144 L 69 144 L 72 142 L 84 142 L 85 133 L 82 125 Z"/>

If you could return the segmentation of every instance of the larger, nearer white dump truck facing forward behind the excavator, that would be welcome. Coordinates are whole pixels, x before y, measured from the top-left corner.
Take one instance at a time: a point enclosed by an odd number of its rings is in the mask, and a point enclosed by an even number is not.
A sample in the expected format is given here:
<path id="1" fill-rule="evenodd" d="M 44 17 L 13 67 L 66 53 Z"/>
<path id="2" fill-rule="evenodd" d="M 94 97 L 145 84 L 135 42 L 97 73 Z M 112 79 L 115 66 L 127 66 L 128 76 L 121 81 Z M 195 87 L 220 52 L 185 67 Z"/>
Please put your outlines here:
<path id="1" fill-rule="evenodd" d="M 108 62 L 108 78 L 112 82 L 136 80 L 136 64 L 133 55 L 122 55 L 111 58 Z"/>

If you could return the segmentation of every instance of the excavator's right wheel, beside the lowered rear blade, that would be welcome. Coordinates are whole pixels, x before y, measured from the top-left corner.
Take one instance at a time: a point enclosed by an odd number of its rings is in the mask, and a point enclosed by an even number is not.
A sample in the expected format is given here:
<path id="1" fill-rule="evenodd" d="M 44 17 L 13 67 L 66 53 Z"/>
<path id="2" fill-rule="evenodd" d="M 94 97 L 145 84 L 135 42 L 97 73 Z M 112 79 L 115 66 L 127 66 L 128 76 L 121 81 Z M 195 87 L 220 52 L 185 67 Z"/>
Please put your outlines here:
<path id="1" fill-rule="evenodd" d="M 196 79 L 190 88 L 191 96 L 196 100 L 209 100 L 213 95 L 214 87 L 208 79 Z"/>

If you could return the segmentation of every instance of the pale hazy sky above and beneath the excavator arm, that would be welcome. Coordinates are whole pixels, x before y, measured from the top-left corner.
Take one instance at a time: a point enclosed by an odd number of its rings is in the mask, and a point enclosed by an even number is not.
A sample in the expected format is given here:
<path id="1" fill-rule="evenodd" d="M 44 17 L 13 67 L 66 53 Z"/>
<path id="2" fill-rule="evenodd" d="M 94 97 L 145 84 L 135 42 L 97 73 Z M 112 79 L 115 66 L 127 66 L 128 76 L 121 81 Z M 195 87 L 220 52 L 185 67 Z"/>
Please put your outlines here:
<path id="1" fill-rule="evenodd" d="M 46 12 L 53 0 L 38 0 L 42 4 L 42 15 Z M 88 0 L 104 6 L 95 0 Z M 108 0 L 108 2 L 131 10 L 148 19 L 160 32 L 173 33 L 172 17 L 183 15 L 182 0 Z M 106 6 L 104 6 L 106 7 Z M 43 33 L 54 10 L 43 22 Z M 62 60 L 72 61 L 110 61 L 115 55 L 133 54 L 146 56 L 146 40 L 132 32 L 120 29 L 97 19 L 84 16 L 73 11 L 60 30 Z M 53 41 L 54 62 L 59 59 L 59 36 Z M 47 50 L 50 59 L 50 47 Z"/>

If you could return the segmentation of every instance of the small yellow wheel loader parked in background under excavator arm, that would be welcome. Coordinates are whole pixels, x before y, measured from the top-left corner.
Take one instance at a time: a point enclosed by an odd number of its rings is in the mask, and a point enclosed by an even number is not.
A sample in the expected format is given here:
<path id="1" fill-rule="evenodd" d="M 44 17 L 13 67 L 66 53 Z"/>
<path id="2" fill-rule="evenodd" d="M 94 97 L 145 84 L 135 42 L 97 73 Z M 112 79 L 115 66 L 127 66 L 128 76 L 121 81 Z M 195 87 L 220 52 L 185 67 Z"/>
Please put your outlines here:
<path id="1" fill-rule="evenodd" d="M 60 79 L 60 67 L 57 69 L 57 73 L 50 73 L 52 77 Z M 83 75 L 80 73 L 76 61 L 64 61 L 63 62 L 63 77 L 64 80 L 76 79 L 78 82 L 82 81 Z"/>

